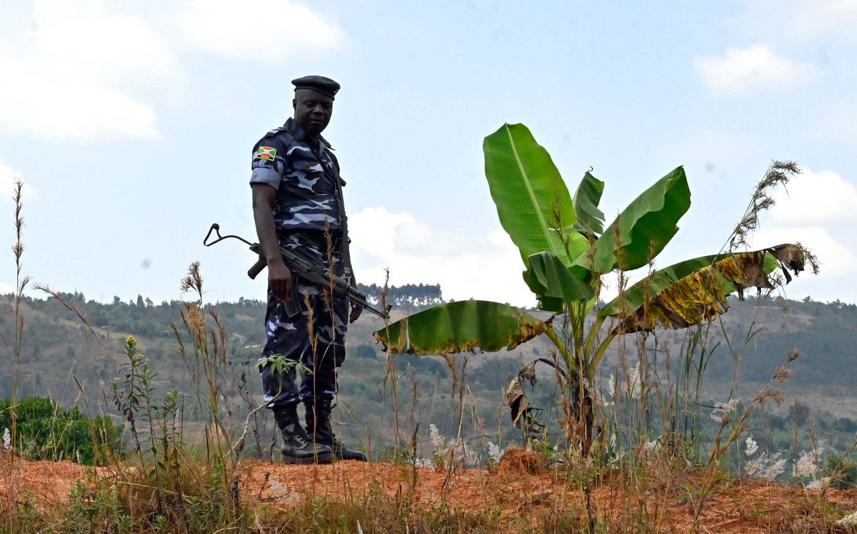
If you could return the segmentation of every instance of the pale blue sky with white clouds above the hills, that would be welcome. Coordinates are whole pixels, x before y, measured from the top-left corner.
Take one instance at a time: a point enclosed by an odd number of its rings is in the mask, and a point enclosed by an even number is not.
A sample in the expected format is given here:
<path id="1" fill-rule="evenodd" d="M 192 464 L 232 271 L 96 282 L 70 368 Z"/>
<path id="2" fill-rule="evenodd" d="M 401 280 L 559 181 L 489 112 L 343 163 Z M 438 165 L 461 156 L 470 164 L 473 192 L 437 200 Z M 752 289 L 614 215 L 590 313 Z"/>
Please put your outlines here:
<path id="1" fill-rule="evenodd" d="M 20 177 L 34 282 L 158 302 L 198 260 L 208 300 L 263 298 L 250 252 L 201 240 L 214 222 L 255 240 L 252 146 L 291 116 L 290 80 L 323 74 L 361 282 L 534 304 L 482 169 L 482 139 L 523 122 L 570 189 L 590 166 L 606 181 L 608 220 L 685 165 L 660 266 L 720 250 L 770 160 L 794 159 L 754 245 L 818 254 L 789 298 L 857 302 L 854 27 L 844 0 L 3 3 L 0 240 Z"/>

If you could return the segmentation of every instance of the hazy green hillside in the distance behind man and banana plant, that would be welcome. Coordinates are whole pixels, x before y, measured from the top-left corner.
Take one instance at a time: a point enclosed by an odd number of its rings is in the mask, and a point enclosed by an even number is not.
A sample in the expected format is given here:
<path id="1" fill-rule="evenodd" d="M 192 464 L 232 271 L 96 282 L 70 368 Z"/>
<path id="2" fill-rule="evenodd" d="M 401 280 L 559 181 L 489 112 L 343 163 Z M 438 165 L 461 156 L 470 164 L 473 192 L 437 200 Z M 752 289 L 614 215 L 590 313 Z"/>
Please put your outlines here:
<path id="1" fill-rule="evenodd" d="M 363 290 L 375 295 L 378 288 L 364 287 Z M 63 299 L 87 317 L 96 334 L 90 333 L 84 323 L 57 300 L 23 300 L 25 326 L 18 369 L 19 396 L 50 395 L 63 406 L 76 404 L 92 415 L 115 413 L 110 384 L 113 379 L 122 377 L 123 343 L 128 335 L 134 335 L 139 350 L 147 355 L 150 366 L 158 373 L 155 383 L 160 391 L 177 388 L 186 398 L 191 398 L 194 386 L 189 381 L 188 366 L 178 356 L 178 344 L 171 328 L 171 324 L 175 324 L 179 332 L 183 331 L 181 302 L 155 304 L 140 296 L 131 302 L 117 298 L 110 304 L 101 304 L 86 300 L 82 294 L 63 294 Z M 442 299 L 440 287 L 415 285 L 394 288 L 390 301 L 394 304 L 395 319 Z M 11 391 L 11 355 L 15 339 L 12 306 L 12 295 L 0 296 L 0 333 L 6 341 L 7 355 L 0 372 L 0 398 L 9 397 Z M 760 383 L 767 382 L 788 353 L 796 348 L 801 356 L 790 365 L 794 377 L 787 384 L 789 394 L 816 410 L 829 411 L 831 421 L 836 417 L 857 419 L 857 409 L 853 407 L 857 406 L 857 394 L 852 392 L 854 373 L 851 371 L 857 368 L 857 306 L 812 300 L 768 300 L 759 305 L 754 298 L 730 299 L 730 306 L 722 321 L 710 327 L 709 345 L 716 349 L 705 371 L 705 395 L 714 400 L 728 398 L 735 369 L 734 353 L 740 353 L 739 391 L 746 396 L 752 395 Z M 254 364 L 263 342 L 264 308 L 260 300 L 245 299 L 205 306 L 205 310 L 214 311 L 225 326 L 228 365 L 234 372 L 224 380 L 231 381 L 227 388 L 233 392 L 230 417 L 237 425 L 243 424 L 250 405 L 261 403 Z M 212 317 L 208 316 L 207 321 L 212 328 Z M 347 413 L 349 419 L 343 432 L 352 432 L 354 438 L 361 441 L 384 441 L 393 434 L 395 410 L 388 377 L 390 366 L 386 354 L 372 337 L 382 326 L 378 317 L 368 313 L 351 325 L 347 340 L 349 356 L 339 377 L 340 410 L 342 417 Z M 745 343 L 751 328 L 754 334 Z M 724 341 L 724 332 L 731 342 L 731 350 Z M 686 332 L 661 332 L 658 338 L 662 350 L 668 347 L 670 358 L 680 357 Z M 625 340 L 614 343 L 603 365 L 605 376 L 620 367 L 623 353 L 626 361 L 634 365 L 638 352 L 632 341 L 633 336 L 626 336 Z M 458 392 L 452 390 L 452 369 L 444 359 L 396 357 L 393 365 L 399 373 L 399 424 L 410 429 L 405 430 L 407 433 L 419 423 L 422 433 L 428 431 L 431 423 L 444 435 L 454 436 L 458 431 L 456 414 L 463 411 L 479 419 L 478 422 L 473 419 L 469 429 L 465 429 L 470 436 L 484 432 L 496 441 L 498 432 L 502 431 L 506 433 L 506 442 L 514 441 L 517 430 L 508 422 L 503 390 L 520 366 L 533 358 L 549 357 L 550 350 L 549 341 L 542 339 L 508 353 L 471 353 L 466 355 L 464 369 L 461 368 L 464 357 L 454 356 L 458 377 L 464 373 L 467 384 L 463 403 Z M 664 353 L 658 354 L 662 364 Z M 486 362 L 490 365 L 484 365 Z M 549 404 L 552 383 L 543 381 L 542 387 L 532 395 Z M 186 415 L 194 418 L 192 412 Z"/>

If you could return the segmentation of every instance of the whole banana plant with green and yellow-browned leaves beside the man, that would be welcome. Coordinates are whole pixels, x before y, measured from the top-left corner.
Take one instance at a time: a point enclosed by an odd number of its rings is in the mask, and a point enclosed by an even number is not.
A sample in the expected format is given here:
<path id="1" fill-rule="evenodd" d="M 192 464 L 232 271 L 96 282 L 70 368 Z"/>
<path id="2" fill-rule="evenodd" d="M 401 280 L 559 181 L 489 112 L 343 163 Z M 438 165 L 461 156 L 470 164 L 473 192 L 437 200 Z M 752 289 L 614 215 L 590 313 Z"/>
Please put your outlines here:
<path id="1" fill-rule="evenodd" d="M 511 350 L 547 335 L 564 366 L 556 373 L 560 385 L 582 392 L 581 401 L 591 403 L 583 392 L 587 384 L 591 386 L 617 335 L 658 326 L 681 329 L 710 321 L 727 311 L 728 294 L 743 298 L 745 288 L 770 289 L 782 283 L 782 277 L 771 276 L 778 268 L 787 282 L 788 270 L 795 274 L 804 270 L 807 259 L 817 271 L 814 258 L 800 244 L 746 252 L 734 252 L 730 247 L 728 252 L 651 272 L 606 306 L 595 309 L 602 276 L 651 264 L 678 231 L 677 223 L 691 205 L 685 170 L 678 167 L 668 172 L 605 228 L 598 208 L 604 182 L 586 172 L 572 196 L 548 151 L 524 125 L 503 125 L 485 138 L 483 151 L 491 197 L 500 224 L 520 251 L 524 282 L 536 295 L 540 309 L 562 314 L 562 327 L 554 326 L 554 317 L 542 320 L 514 306 L 484 300 L 453 302 L 375 332 L 375 339 L 391 353 Z M 765 189 L 788 181 L 786 171 L 800 172 L 794 163 L 775 162 L 771 169 L 736 228 L 730 240 L 733 245 L 735 235 L 742 238 L 745 231 L 755 228 L 755 213 L 772 204 Z M 536 361 L 557 367 L 548 359 Z M 535 423 L 520 382 L 522 377 L 535 380 L 534 365 L 525 367 L 506 389 L 518 428 L 525 423 L 531 428 Z M 591 412 L 585 413 L 585 406 L 577 402 L 572 404 L 571 411 L 583 421 L 582 431 L 588 434 Z"/>

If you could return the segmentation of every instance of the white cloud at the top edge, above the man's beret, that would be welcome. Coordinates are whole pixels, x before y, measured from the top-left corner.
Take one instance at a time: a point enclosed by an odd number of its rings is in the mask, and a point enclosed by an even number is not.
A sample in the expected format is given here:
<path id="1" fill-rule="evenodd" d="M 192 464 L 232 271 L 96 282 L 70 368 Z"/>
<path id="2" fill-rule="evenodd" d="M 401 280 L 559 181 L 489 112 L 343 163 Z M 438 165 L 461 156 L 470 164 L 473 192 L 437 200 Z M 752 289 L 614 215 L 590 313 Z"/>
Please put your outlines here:
<path id="1" fill-rule="evenodd" d="M 193 0 L 177 21 L 203 50 L 271 67 L 298 53 L 335 50 L 343 42 L 336 24 L 291 0 Z"/>

